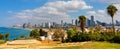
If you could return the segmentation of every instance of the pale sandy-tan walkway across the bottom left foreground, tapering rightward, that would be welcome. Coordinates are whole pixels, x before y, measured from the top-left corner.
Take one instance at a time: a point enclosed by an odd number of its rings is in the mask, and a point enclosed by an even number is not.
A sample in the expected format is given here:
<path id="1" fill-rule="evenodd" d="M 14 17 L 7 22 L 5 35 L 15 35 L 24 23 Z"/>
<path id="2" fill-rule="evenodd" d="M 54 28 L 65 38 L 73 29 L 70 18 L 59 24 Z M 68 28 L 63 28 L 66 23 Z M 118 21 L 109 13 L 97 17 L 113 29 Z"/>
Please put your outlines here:
<path id="1" fill-rule="evenodd" d="M 0 49 L 52 49 L 55 47 L 70 47 L 80 46 L 88 42 L 76 42 L 76 43 L 61 43 L 61 44 L 42 44 L 40 41 L 35 39 L 32 40 L 16 40 L 7 42 L 0 45 Z"/>

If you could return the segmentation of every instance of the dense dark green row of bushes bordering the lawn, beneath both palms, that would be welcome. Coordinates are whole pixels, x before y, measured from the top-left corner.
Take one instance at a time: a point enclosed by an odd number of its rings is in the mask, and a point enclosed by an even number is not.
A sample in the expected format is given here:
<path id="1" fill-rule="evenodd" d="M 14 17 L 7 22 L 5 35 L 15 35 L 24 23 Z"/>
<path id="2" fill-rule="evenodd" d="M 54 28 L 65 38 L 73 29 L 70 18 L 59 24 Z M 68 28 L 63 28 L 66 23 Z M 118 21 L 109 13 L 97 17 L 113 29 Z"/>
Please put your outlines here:
<path id="1" fill-rule="evenodd" d="M 68 30 L 67 42 L 82 42 L 82 41 L 108 41 L 120 43 L 120 33 L 117 35 L 111 31 L 93 32 L 93 33 L 81 33 L 76 30 Z"/>

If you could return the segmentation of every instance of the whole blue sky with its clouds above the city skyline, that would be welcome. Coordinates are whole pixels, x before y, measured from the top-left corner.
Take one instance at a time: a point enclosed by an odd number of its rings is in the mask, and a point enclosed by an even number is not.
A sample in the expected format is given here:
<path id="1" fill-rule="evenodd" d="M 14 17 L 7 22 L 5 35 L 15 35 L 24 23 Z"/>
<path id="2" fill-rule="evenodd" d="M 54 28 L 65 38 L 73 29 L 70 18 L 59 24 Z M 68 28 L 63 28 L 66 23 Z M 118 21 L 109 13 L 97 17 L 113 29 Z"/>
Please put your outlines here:
<path id="1" fill-rule="evenodd" d="M 119 0 L 0 0 L 0 27 L 23 23 L 41 24 L 61 20 L 71 23 L 72 19 L 85 15 L 95 21 L 111 23 L 106 8 L 113 4 L 118 11 L 114 16 L 120 21 Z"/>

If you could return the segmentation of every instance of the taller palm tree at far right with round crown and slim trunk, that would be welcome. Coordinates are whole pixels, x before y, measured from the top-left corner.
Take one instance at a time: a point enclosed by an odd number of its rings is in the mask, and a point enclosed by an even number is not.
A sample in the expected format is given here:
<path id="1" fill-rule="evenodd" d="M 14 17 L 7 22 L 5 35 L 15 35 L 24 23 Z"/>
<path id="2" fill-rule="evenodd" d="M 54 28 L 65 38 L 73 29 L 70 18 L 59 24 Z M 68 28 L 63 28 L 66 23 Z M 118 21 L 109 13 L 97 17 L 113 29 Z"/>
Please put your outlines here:
<path id="1" fill-rule="evenodd" d="M 107 13 L 108 15 L 111 16 L 112 18 L 112 28 L 113 28 L 113 32 L 115 33 L 115 28 L 114 28 L 114 19 L 113 16 L 115 15 L 115 13 L 118 11 L 118 9 L 114 6 L 114 5 L 109 5 L 107 7 Z"/>

